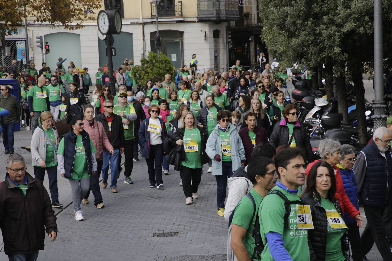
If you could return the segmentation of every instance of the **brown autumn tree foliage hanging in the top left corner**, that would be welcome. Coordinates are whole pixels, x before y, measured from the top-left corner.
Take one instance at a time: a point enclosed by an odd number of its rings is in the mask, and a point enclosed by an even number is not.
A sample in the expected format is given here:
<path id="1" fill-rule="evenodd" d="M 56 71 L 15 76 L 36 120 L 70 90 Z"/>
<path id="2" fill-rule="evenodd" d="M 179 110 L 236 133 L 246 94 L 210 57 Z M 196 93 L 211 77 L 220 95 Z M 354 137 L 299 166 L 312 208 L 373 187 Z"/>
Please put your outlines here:
<path id="1" fill-rule="evenodd" d="M 27 16 L 34 16 L 34 23 L 49 23 L 74 30 L 84 27 L 85 20 L 94 20 L 94 9 L 102 9 L 102 0 L 0 0 L 0 32 L 11 35 L 16 26 Z M 2 37 L 2 36 L 0 36 Z"/>

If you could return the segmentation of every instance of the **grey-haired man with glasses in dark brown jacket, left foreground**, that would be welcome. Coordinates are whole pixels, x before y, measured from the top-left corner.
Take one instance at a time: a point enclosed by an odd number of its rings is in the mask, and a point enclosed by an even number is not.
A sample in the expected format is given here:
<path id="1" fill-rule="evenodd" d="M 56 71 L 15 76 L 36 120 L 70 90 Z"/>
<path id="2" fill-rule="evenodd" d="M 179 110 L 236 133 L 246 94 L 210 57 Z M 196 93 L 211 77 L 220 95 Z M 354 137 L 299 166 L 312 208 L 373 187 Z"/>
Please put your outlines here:
<path id="1" fill-rule="evenodd" d="M 57 238 L 56 216 L 49 194 L 26 168 L 21 155 L 9 156 L 7 174 L 0 184 L 0 228 L 9 260 L 37 260 L 38 250 L 45 247 L 44 226 L 51 241 Z"/>

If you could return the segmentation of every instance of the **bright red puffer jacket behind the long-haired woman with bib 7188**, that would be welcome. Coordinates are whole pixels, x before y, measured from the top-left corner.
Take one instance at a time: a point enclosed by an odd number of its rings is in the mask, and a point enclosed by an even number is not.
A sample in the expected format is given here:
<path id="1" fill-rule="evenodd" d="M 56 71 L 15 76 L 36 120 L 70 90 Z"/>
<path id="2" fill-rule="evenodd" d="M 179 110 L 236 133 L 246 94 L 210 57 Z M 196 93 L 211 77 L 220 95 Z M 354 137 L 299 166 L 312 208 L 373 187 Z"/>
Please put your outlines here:
<path id="1" fill-rule="evenodd" d="M 321 160 L 315 160 L 312 163 L 309 163 L 309 165 L 306 167 L 306 175 L 309 175 L 309 171 L 312 168 L 313 164 L 316 162 L 321 161 Z M 335 178 L 336 178 L 336 193 L 335 193 L 335 198 L 339 201 L 340 207 L 342 209 L 342 213 L 347 212 L 351 218 L 354 219 L 356 215 L 359 214 L 358 209 L 352 205 L 350 199 L 348 198 L 346 191 L 344 190 L 343 187 L 343 179 L 340 175 L 340 170 L 339 167 L 334 166 L 334 170 L 336 171 L 335 173 Z"/>

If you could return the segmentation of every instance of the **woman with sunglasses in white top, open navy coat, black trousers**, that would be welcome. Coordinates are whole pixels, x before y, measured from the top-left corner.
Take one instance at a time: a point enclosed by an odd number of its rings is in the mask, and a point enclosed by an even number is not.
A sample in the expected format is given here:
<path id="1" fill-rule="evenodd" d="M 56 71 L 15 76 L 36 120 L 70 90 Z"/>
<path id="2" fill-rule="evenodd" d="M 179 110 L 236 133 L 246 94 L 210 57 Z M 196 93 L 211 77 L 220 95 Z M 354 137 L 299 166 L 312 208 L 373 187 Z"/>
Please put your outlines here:
<path id="1" fill-rule="evenodd" d="M 140 124 L 139 144 L 142 157 L 147 163 L 150 187 L 156 186 L 158 189 L 162 189 L 163 142 L 167 137 L 167 130 L 163 119 L 158 118 L 160 115 L 158 105 L 151 104 L 148 112 L 150 117 Z"/>

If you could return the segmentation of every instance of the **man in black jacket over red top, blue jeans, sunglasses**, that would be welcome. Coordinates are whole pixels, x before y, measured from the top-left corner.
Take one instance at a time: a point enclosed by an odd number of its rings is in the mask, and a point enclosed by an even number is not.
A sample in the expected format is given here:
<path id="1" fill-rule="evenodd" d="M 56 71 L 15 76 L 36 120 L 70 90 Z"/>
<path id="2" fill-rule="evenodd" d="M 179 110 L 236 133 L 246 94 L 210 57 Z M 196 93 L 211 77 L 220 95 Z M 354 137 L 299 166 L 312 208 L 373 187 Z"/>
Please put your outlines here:
<path id="1" fill-rule="evenodd" d="M 95 120 L 103 124 L 107 137 L 114 148 L 114 155 L 112 156 L 109 151 L 103 149 L 103 165 L 102 165 L 102 187 L 107 187 L 108 171 L 109 171 L 109 160 L 111 169 L 111 184 L 112 193 L 117 193 L 117 179 L 119 176 L 118 167 L 120 161 L 118 160 L 118 153 L 124 152 L 125 143 L 124 139 L 124 128 L 122 119 L 119 115 L 113 113 L 113 103 L 111 101 L 105 101 L 103 103 L 104 112 L 100 115 L 95 116 Z"/>

